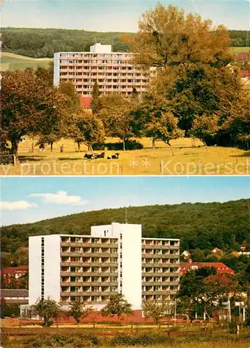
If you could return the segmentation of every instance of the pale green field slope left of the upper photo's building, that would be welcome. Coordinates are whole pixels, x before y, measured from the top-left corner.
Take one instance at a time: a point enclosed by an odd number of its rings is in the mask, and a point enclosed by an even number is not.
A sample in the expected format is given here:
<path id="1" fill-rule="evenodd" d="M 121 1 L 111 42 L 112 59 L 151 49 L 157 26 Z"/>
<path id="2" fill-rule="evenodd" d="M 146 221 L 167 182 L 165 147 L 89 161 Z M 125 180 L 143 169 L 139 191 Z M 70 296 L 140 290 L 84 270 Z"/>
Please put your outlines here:
<path id="1" fill-rule="evenodd" d="M 8 52 L 1 53 L 1 68 L 0 71 L 6 70 L 25 70 L 26 68 L 38 68 L 43 66 L 47 68 L 49 61 L 53 61 L 51 58 L 31 58 L 25 56 L 19 56 L 18 54 L 12 54 Z"/>

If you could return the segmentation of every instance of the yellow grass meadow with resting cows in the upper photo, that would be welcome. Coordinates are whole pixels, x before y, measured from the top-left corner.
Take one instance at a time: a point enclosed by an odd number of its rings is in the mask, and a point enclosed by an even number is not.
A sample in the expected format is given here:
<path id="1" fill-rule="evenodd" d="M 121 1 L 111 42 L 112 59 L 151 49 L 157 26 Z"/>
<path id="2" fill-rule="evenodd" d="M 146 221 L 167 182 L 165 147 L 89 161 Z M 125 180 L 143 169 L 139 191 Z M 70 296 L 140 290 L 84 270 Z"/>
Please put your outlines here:
<path id="1" fill-rule="evenodd" d="M 118 139 L 107 139 L 107 142 Z M 250 151 L 237 148 L 208 147 L 201 141 L 177 139 L 171 141 L 174 156 L 168 145 L 157 141 L 152 149 L 151 139 L 140 140 L 142 150 L 118 151 L 119 159 L 107 159 L 116 151 L 105 151 L 104 159 L 84 159 L 86 146 L 76 151 L 72 140 L 61 140 L 40 152 L 36 146 L 31 152 L 31 139 L 19 145 L 19 163 L 1 165 L 1 175 L 247 175 Z M 63 152 L 60 146 L 63 144 Z M 100 153 L 102 151 L 95 151 Z"/>

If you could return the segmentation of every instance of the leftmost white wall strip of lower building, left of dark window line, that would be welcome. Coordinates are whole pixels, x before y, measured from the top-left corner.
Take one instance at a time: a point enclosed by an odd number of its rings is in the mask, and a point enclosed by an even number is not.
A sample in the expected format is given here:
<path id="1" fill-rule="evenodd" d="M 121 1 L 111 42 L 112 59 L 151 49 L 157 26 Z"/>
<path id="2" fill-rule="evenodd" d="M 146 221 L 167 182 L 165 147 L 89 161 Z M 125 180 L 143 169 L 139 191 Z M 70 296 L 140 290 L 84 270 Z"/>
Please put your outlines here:
<path id="1" fill-rule="evenodd" d="M 41 236 L 29 237 L 29 305 L 41 296 Z"/>

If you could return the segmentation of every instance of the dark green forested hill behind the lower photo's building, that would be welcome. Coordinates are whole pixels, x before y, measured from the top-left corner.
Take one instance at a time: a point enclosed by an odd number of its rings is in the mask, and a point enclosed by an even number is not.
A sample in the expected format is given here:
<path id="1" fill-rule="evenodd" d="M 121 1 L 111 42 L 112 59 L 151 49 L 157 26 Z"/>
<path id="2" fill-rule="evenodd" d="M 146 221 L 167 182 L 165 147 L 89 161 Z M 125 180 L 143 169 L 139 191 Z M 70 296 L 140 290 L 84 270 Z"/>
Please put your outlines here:
<path id="1" fill-rule="evenodd" d="M 182 250 L 217 246 L 233 251 L 242 242 L 250 243 L 248 200 L 227 203 L 182 203 L 128 207 L 128 223 L 141 223 L 144 237 L 177 237 Z M 15 252 L 28 245 L 31 235 L 53 233 L 90 234 L 91 226 L 112 221 L 124 223 L 125 208 L 103 209 L 1 228 L 2 251 Z"/>

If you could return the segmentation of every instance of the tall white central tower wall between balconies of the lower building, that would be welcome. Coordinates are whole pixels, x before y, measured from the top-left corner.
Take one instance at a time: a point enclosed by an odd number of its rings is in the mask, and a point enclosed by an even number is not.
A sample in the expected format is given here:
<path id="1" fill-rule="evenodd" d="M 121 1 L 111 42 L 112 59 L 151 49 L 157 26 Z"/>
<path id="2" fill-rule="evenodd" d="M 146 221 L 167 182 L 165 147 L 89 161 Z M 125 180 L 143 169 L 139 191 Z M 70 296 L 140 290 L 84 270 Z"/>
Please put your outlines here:
<path id="1" fill-rule="evenodd" d="M 122 292 L 134 309 L 141 308 L 141 225 L 122 224 Z"/>

